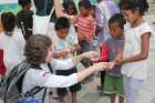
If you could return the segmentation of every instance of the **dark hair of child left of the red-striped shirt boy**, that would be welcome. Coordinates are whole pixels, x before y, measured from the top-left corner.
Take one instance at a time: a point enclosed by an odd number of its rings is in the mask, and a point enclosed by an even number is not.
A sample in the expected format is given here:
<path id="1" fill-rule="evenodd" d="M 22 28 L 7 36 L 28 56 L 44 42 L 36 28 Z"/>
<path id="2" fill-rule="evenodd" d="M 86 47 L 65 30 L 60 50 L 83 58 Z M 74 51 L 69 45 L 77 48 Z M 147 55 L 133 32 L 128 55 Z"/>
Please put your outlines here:
<path id="1" fill-rule="evenodd" d="M 74 14 L 78 14 L 78 10 L 76 10 L 76 7 L 75 7 L 75 3 L 72 1 L 72 0 L 64 0 L 63 1 L 63 8 L 66 10 L 68 7 L 72 6 L 73 7 L 73 10 L 74 10 Z"/>

